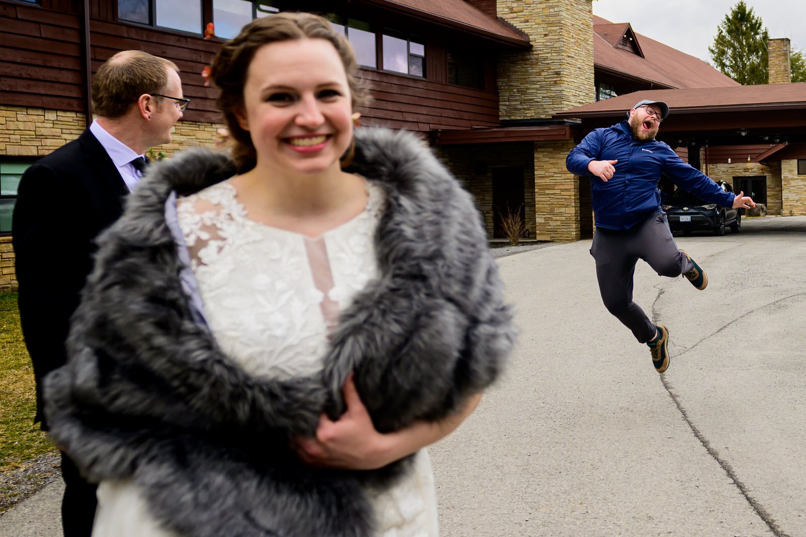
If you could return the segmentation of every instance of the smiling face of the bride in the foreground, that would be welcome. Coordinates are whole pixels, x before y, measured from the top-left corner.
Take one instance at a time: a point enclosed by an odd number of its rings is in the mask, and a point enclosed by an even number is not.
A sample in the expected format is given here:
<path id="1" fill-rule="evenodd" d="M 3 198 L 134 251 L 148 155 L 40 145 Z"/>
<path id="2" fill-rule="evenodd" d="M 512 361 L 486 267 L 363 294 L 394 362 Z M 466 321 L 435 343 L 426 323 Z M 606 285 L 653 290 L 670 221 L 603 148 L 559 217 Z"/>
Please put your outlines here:
<path id="1" fill-rule="evenodd" d="M 293 39 L 258 49 L 236 117 L 251 135 L 258 166 L 309 175 L 339 169 L 351 114 L 347 73 L 333 45 Z"/>

